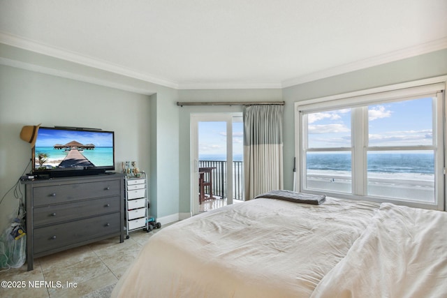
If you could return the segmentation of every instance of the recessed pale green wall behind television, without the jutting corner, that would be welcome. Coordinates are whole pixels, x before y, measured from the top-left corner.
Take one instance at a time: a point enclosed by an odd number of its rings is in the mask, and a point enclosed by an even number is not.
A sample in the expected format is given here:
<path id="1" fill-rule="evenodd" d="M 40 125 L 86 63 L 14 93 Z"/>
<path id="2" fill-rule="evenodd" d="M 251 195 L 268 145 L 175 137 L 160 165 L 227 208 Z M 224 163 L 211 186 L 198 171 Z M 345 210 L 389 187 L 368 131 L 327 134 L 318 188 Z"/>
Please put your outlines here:
<path id="1" fill-rule="evenodd" d="M 149 151 L 148 113 L 146 95 L 0 66 L 1 195 L 15 184 L 31 158 L 31 147 L 19 137 L 24 125 L 115 131 L 116 169 L 121 169 L 122 161 L 138 161 L 149 171 L 149 156 L 144 154 Z M 17 204 L 13 193 L 1 203 L 2 231 L 15 216 Z"/>

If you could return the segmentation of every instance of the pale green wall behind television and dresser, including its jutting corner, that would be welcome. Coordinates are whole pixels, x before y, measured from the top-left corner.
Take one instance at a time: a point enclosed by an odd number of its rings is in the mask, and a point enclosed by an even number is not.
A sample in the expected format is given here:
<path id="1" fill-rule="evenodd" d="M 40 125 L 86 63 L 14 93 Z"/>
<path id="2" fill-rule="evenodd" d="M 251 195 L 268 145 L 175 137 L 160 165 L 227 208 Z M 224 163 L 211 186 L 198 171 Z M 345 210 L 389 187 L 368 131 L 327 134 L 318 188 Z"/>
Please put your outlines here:
<path id="1" fill-rule="evenodd" d="M 133 160 L 149 172 L 152 215 L 178 214 L 176 102 L 175 89 L 0 44 L 0 195 L 31 157 L 22 126 L 94 127 L 115 131 L 117 170 Z M 12 194 L 0 205 L 0 232 L 17 213 Z"/>

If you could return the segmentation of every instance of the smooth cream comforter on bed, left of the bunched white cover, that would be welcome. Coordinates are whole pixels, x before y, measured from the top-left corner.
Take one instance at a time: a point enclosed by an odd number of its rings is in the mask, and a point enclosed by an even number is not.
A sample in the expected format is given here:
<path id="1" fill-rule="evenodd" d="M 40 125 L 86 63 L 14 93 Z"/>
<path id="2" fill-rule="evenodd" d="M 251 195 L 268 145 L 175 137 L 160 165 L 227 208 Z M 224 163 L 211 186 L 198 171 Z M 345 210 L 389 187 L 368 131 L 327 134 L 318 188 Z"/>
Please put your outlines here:
<path id="1" fill-rule="evenodd" d="M 261 198 L 193 216 L 151 237 L 112 297 L 309 297 L 378 207 Z"/>

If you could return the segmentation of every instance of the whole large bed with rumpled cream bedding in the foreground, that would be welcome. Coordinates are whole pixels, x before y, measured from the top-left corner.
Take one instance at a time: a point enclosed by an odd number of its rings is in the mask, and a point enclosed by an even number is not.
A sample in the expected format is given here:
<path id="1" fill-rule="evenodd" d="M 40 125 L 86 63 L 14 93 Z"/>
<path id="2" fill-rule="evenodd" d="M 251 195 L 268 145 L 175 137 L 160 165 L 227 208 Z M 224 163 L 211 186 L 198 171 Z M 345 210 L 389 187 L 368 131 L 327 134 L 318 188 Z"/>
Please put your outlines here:
<path id="1" fill-rule="evenodd" d="M 112 297 L 447 297 L 447 214 L 258 198 L 152 236 Z"/>

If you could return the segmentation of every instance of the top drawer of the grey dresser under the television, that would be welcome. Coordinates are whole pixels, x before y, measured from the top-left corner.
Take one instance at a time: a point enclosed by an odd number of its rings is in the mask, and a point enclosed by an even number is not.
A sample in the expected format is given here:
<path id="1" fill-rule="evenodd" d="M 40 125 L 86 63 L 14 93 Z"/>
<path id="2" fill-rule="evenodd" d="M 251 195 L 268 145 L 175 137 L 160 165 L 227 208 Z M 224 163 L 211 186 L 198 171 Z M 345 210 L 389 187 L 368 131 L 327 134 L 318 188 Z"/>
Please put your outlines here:
<path id="1" fill-rule="evenodd" d="M 120 189 L 113 180 L 34 187 L 34 206 L 120 195 Z"/>

